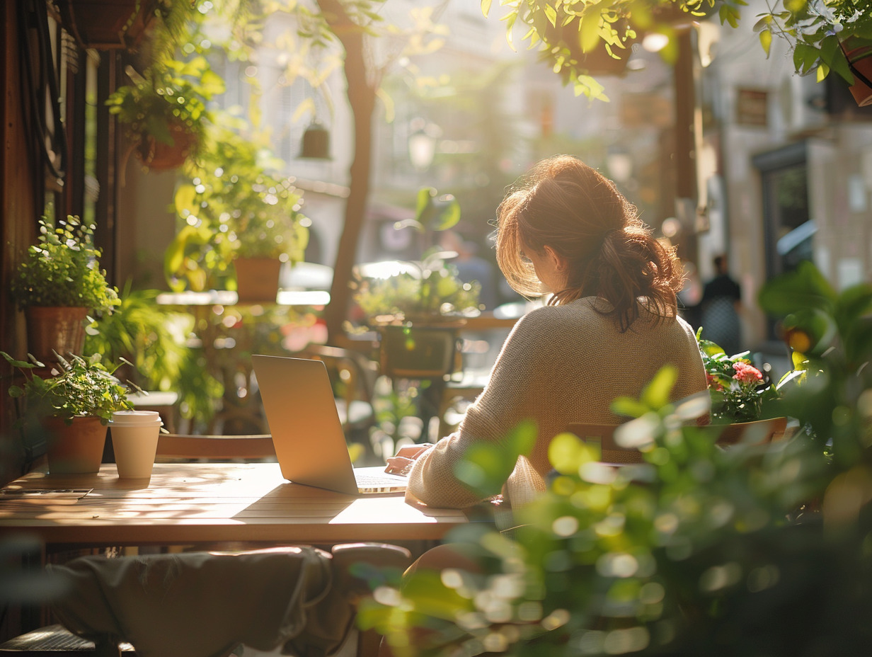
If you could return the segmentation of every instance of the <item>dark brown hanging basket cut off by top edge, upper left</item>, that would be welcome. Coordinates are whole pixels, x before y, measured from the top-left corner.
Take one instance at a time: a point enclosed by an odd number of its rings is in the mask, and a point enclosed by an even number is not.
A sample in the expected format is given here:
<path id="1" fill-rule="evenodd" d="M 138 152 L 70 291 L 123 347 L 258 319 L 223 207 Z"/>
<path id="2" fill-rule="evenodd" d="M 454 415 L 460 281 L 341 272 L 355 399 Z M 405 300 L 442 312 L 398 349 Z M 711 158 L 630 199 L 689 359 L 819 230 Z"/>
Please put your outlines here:
<path id="1" fill-rule="evenodd" d="M 136 50 L 158 0 L 58 0 L 64 27 L 82 48 Z"/>

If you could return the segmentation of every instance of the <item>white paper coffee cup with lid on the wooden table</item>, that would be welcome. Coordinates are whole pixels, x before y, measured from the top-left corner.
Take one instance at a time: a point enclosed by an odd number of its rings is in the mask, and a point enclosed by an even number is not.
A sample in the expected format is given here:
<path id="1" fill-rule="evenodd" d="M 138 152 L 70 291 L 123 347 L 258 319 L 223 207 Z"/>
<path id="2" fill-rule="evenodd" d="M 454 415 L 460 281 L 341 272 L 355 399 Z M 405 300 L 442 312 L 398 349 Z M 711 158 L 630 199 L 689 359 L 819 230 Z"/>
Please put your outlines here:
<path id="1" fill-rule="evenodd" d="M 118 476 L 152 476 L 154 454 L 163 422 L 157 411 L 118 411 L 112 414 L 109 430 Z"/>

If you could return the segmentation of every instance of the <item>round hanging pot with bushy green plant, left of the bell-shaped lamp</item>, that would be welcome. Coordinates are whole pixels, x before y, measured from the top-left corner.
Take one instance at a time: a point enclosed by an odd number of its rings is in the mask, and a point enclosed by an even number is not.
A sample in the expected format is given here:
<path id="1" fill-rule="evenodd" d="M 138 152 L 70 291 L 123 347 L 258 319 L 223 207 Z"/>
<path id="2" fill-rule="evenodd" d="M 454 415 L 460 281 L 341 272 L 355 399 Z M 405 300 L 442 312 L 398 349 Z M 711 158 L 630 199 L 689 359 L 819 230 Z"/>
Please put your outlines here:
<path id="1" fill-rule="evenodd" d="M 109 112 L 125 125 L 137 156 L 155 171 L 178 168 L 194 154 L 210 120 L 208 100 L 224 92 L 224 80 L 205 57 L 187 61 L 165 55 L 143 74 L 128 66 L 133 84 L 106 99 Z"/>

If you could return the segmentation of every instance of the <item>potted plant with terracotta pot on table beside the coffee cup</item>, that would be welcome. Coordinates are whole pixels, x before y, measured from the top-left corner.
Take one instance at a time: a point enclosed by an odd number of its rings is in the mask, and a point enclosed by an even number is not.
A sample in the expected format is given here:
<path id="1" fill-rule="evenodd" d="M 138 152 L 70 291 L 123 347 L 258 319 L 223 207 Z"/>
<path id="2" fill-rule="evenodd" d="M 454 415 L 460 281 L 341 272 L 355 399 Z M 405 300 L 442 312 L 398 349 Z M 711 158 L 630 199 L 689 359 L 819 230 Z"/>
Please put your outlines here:
<path id="1" fill-rule="evenodd" d="M 41 377 L 34 373 L 44 367 L 37 359 L 0 355 L 24 374 L 24 384 L 10 386 L 9 394 L 24 402 L 19 427 L 32 430 L 35 424 L 47 436 L 50 473 L 97 472 L 112 414 L 133 410 L 127 388 L 112 375 L 114 368 L 107 369 L 99 354 L 87 359 L 55 354 L 58 365 Z"/>

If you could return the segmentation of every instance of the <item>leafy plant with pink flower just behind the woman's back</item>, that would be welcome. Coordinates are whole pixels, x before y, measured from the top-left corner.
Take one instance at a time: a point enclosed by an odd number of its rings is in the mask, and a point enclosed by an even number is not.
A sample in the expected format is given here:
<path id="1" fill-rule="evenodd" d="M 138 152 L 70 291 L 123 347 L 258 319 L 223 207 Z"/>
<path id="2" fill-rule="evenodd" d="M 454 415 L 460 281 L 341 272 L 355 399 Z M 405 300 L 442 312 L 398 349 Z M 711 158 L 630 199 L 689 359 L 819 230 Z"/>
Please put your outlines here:
<path id="1" fill-rule="evenodd" d="M 776 399 L 778 390 L 772 383 L 764 381 L 763 373 L 746 359 L 749 352 L 728 356 L 711 340 L 702 339 L 702 332 L 700 326 L 697 343 L 712 396 L 712 419 L 726 422 L 760 420 L 763 403 Z"/>

